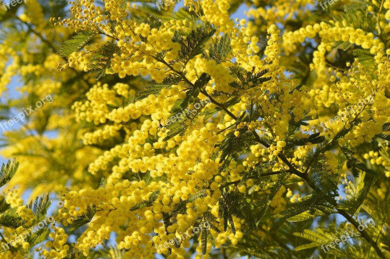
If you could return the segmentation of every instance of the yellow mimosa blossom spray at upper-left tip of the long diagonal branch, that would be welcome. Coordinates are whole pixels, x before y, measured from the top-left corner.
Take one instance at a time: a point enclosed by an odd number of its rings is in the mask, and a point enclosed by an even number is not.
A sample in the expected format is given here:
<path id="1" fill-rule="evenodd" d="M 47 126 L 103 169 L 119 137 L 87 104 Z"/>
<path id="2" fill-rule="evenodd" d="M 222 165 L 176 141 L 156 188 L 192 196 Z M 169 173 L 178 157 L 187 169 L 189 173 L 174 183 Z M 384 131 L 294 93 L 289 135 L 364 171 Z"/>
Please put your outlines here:
<path id="1" fill-rule="evenodd" d="M 52 19 L 56 24 L 67 24 L 76 30 L 89 29 L 98 33 L 103 33 L 107 37 L 117 39 L 117 47 L 120 55 L 115 53 L 111 59 L 111 66 L 114 73 L 118 73 L 123 78 L 126 75 L 150 74 L 157 82 L 162 82 L 167 68 L 163 63 L 156 62 L 153 58 L 161 51 L 167 51 L 165 60 L 169 61 L 177 56 L 180 45 L 172 42 L 174 32 L 170 28 L 171 23 L 166 22 L 163 28 L 157 30 L 150 28 L 147 23 L 138 24 L 125 19 L 126 12 L 118 6 L 116 0 L 104 0 L 104 9 L 110 13 L 110 19 L 114 19 L 120 25 L 108 26 L 104 20 L 100 6 L 96 6 L 93 1 L 83 0 L 80 5 L 72 2 L 71 11 L 76 19 Z M 83 6 L 84 9 L 81 9 Z M 181 27 L 185 27 L 184 24 Z M 147 42 L 142 42 L 141 37 L 146 38 Z M 104 43 L 96 43 L 94 46 L 86 46 L 85 51 L 73 53 L 68 60 L 69 67 L 81 66 L 84 71 L 88 71 L 89 60 Z M 111 73 L 109 70 L 107 73 Z"/>

